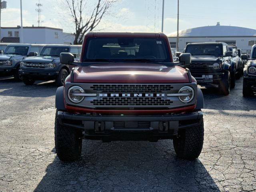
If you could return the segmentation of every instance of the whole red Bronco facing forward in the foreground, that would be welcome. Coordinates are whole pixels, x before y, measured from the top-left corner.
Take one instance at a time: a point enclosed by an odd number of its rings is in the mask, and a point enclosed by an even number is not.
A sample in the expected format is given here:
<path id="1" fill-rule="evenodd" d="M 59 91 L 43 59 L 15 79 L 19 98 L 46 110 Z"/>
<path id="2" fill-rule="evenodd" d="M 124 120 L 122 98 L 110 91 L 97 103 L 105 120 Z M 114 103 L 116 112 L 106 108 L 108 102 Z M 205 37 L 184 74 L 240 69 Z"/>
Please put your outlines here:
<path id="1" fill-rule="evenodd" d="M 204 140 L 203 95 L 194 77 L 173 62 L 162 33 L 89 32 L 80 62 L 56 92 L 55 147 L 60 160 L 77 160 L 82 140 L 173 139 L 178 157 L 195 159 Z"/>

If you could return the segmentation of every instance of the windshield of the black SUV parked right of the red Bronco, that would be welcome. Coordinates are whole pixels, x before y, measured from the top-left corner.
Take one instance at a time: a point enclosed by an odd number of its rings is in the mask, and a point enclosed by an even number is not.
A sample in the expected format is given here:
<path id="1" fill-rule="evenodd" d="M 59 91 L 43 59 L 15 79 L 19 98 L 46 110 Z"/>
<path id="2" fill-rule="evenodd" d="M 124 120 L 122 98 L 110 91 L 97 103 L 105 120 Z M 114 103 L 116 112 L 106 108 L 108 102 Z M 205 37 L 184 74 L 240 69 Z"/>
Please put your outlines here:
<path id="1" fill-rule="evenodd" d="M 223 55 L 223 50 L 222 45 L 219 44 L 197 44 L 188 45 L 186 47 L 185 53 L 190 53 L 191 55 L 220 56 Z"/>

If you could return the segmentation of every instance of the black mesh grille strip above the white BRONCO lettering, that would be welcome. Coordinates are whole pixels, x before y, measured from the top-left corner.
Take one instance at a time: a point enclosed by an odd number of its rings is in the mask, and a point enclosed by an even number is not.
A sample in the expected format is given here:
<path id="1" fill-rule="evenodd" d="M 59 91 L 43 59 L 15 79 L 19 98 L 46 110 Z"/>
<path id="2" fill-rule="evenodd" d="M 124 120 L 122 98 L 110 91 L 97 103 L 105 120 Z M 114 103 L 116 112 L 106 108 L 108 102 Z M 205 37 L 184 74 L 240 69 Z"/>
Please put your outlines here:
<path id="1" fill-rule="evenodd" d="M 94 91 L 102 93 L 115 92 L 115 93 L 156 93 L 156 92 L 170 92 L 173 88 L 171 85 L 132 85 L 132 84 L 95 84 L 90 87 Z"/>

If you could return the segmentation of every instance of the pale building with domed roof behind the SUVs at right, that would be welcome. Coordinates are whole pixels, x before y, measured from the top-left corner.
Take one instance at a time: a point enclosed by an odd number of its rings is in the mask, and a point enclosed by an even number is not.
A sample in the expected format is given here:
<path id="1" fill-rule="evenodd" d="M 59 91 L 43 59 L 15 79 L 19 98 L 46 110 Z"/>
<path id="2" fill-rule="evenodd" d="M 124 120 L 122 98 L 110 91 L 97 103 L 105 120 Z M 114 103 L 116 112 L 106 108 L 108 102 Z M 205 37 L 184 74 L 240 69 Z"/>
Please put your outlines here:
<path id="1" fill-rule="evenodd" d="M 176 48 L 177 32 L 168 34 L 172 48 Z M 191 42 L 225 42 L 236 45 L 243 53 L 250 53 L 252 45 L 256 44 L 256 30 L 236 26 L 204 26 L 179 31 L 179 51 L 184 50 Z"/>

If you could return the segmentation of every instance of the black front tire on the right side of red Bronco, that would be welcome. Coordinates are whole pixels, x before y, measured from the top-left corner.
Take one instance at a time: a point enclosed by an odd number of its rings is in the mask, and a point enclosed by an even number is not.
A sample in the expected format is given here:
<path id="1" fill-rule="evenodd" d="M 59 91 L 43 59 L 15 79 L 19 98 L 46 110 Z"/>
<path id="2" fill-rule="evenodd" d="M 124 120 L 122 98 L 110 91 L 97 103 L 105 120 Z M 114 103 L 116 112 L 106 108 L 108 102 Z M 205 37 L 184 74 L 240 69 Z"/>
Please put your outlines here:
<path id="1" fill-rule="evenodd" d="M 204 121 L 198 126 L 178 131 L 173 140 L 174 150 L 178 158 L 194 160 L 200 155 L 204 144 Z"/>

